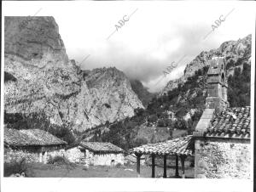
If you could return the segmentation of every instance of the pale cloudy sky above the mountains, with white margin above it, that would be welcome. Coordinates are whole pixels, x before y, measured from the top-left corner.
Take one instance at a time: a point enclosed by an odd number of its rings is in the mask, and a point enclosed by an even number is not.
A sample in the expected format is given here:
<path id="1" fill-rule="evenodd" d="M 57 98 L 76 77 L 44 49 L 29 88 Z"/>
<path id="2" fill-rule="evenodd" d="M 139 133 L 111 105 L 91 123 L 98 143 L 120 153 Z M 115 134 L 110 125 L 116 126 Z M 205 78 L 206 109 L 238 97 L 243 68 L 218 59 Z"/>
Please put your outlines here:
<path id="1" fill-rule="evenodd" d="M 253 6 L 244 2 L 3 4 L 3 15 L 34 14 L 54 16 L 69 59 L 75 59 L 82 69 L 115 66 L 129 78 L 142 81 L 151 92 L 159 91 L 169 80 L 182 76 L 185 65 L 201 51 L 246 37 L 253 32 L 255 23 Z M 221 25 L 212 31 L 214 21 L 227 14 Z M 116 31 L 115 25 L 123 18 L 129 20 Z M 166 67 L 180 59 L 172 73 L 163 77 Z"/>

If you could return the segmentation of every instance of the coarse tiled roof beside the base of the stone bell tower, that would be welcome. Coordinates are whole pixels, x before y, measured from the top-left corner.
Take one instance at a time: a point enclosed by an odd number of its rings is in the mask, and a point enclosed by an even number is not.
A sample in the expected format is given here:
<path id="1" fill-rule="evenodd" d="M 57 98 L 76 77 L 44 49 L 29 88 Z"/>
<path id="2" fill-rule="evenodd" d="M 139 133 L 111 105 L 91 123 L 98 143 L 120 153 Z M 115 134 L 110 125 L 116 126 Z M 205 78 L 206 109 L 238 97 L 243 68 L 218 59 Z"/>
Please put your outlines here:
<path id="1" fill-rule="evenodd" d="M 250 138 L 250 107 L 234 107 L 223 110 L 212 119 L 206 136 Z"/>

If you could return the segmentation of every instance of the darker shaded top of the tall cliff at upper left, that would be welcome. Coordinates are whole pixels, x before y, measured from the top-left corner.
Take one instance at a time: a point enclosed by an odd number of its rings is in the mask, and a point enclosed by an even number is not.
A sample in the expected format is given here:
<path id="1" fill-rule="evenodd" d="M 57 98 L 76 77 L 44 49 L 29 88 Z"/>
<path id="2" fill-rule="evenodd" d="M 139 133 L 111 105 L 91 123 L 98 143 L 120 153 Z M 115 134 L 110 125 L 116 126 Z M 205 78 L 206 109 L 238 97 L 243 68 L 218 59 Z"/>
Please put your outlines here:
<path id="1" fill-rule="evenodd" d="M 67 65 L 68 57 L 59 27 L 53 17 L 4 18 L 4 54 L 19 57 L 23 63 L 38 66 Z"/>

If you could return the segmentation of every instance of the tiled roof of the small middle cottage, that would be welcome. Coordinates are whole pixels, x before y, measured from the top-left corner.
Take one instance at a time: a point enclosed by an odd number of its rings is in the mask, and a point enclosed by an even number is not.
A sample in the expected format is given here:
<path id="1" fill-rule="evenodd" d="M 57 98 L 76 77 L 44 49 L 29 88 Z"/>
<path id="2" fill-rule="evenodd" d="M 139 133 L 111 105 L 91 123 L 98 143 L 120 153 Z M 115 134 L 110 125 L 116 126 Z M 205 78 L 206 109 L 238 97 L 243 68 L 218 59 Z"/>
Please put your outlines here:
<path id="1" fill-rule="evenodd" d="M 84 147 L 86 150 L 91 150 L 96 153 L 123 153 L 124 150 L 119 148 L 118 146 L 105 143 L 105 142 L 85 142 L 82 141 L 80 146 Z"/>

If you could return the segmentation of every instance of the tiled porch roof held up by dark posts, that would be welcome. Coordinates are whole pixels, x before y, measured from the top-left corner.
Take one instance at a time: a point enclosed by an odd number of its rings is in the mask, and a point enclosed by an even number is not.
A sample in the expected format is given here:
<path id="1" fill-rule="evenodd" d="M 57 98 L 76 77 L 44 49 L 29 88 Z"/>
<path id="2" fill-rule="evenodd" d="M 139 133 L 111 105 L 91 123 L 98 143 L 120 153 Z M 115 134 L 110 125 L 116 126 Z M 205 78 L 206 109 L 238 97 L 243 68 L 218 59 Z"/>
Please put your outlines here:
<path id="1" fill-rule="evenodd" d="M 194 153 L 194 143 L 192 135 L 189 135 L 159 144 L 144 144 L 133 148 L 130 152 L 144 155 L 192 155 Z"/>

